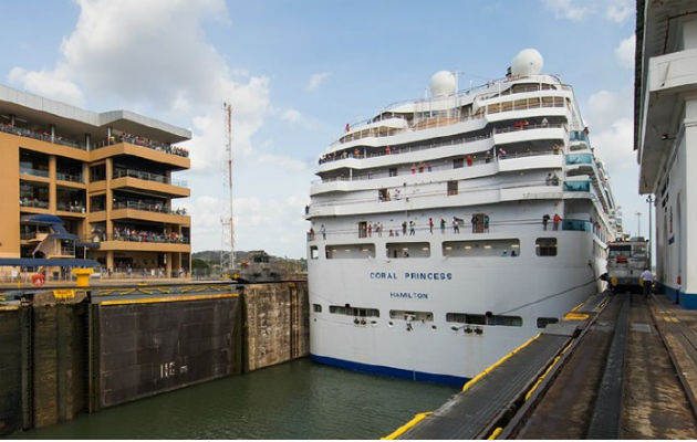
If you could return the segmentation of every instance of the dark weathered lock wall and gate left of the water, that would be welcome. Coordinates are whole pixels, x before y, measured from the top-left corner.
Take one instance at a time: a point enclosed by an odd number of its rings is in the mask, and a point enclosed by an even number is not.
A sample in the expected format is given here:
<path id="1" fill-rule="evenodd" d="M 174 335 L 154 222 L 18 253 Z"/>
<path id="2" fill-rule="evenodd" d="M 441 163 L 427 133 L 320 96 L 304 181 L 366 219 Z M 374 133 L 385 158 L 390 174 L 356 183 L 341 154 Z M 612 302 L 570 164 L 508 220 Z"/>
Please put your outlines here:
<path id="1" fill-rule="evenodd" d="M 18 301 L 0 302 L 0 435 L 282 364 L 309 350 L 304 281 L 28 290 L 11 296 Z"/>

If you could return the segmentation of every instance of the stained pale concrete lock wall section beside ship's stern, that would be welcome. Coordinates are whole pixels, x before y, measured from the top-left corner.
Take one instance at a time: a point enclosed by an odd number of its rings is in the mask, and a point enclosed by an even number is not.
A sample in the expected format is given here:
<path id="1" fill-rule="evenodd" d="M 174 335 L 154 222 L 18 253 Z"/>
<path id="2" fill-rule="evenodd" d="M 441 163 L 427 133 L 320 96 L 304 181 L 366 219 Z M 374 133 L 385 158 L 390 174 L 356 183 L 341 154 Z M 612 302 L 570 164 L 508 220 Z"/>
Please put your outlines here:
<path id="1" fill-rule="evenodd" d="M 309 355 L 308 283 L 245 286 L 245 371 Z"/>

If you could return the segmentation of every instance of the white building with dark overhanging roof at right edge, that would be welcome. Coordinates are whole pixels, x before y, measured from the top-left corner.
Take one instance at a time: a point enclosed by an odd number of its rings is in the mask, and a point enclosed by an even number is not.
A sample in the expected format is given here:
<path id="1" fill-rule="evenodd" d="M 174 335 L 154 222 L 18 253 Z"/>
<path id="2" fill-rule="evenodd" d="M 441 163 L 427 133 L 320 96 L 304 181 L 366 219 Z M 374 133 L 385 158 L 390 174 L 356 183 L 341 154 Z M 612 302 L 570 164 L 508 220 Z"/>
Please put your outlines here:
<path id="1" fill-rule="evenodd" d="M 697 8 L 637 1 L 635 149 L 639 192 L 655 196 L 656 273 L 697 308 Z"/>

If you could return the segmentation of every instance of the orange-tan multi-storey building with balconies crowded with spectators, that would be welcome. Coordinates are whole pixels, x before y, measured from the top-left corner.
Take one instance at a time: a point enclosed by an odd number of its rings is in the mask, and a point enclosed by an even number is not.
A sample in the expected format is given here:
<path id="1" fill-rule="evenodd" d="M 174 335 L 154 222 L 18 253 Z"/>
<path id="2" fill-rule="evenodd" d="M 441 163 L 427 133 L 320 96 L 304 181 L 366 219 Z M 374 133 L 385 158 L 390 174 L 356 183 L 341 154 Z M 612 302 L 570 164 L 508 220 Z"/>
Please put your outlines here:
<path id="1" fill-rule="evenodd" d="M 0 85 L 0 257 L 43 257 L 31 214 L 51 213 L 97 242 L 76 251 L 113 274 L 190 269 L 189 130 L 128 110 L 93 113 Z"/>

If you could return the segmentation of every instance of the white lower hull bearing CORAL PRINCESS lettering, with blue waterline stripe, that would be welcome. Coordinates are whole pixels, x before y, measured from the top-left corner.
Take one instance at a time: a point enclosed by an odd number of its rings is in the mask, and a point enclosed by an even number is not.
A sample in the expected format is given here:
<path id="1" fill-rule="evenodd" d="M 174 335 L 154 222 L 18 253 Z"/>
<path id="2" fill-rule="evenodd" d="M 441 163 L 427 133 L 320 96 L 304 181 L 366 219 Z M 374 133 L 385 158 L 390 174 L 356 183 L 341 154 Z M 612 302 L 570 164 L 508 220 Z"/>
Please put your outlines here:
<path id="1" fill-rule="evenodd" d="M 535 254 L 541 235 L 556 238 L 555 256 Z M 601 290 L 603 260 L 593 252 L 592 233 L 518 239 L 518 256 L 311 261 L 313 359 L 461 383 L 542 332 L 540 320 L 561 319 Z"/>

